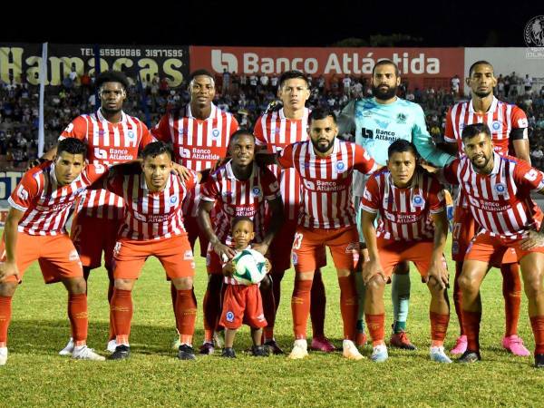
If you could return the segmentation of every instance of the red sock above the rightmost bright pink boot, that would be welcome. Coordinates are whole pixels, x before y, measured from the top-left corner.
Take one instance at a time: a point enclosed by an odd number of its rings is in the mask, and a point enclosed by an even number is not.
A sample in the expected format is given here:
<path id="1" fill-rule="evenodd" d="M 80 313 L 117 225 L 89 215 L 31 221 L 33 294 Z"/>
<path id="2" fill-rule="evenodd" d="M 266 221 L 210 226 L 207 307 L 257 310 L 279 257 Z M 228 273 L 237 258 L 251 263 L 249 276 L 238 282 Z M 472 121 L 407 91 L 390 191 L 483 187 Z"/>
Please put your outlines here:
<path id="1" fill-rule="evenodd" d="M 502 296 L 504 296 L 504 315 L 506 318 L 505 336 L 518 334 L 518 320 L 521 306 L 520 264 L 504 264 L 502 274 Z"/>

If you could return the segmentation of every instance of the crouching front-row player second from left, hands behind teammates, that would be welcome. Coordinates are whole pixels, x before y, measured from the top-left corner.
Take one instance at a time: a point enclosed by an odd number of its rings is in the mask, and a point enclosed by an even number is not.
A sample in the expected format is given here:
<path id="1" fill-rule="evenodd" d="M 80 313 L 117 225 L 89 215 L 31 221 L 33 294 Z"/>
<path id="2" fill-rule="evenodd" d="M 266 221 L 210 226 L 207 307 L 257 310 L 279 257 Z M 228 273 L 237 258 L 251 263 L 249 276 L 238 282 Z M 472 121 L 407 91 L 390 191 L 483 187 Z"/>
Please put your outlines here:
<path id="1" fill-rule="evenodd" d="M 192 294 L 195 263 L 183 226 L 181 204 L 187 191 L 199 182 L 199 175 L 189 170 L 189 180 L 181 180 L 172 173 L 170 148 L 161 141 L 148 144 L 141 156 L 141 169 L 134 174 L 115 174 L 104 186 L 125 203 L 125 219 L 113 251 L 111 311 L 117 347 L 110 359 L 121 360 L 131 354 L 132 288 L 145 260 L 154 256 L 178 291 L 178 357 L 194 360 L 191 344 L 197 316 L 197 302 Z"/>

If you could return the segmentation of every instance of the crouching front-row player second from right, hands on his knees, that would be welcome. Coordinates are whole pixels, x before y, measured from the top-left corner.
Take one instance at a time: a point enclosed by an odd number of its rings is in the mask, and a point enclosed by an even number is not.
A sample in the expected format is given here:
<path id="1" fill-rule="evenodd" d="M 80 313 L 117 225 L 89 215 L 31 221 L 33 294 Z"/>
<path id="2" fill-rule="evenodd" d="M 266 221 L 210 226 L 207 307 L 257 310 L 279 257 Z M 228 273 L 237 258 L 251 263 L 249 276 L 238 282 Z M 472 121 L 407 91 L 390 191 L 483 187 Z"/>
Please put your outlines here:
<path id="1" fill-rule="evenodd" d="M 417 164 L 409 141 L 389 147 L 387 169 L 368 180 L 361 206 L 363 233 L 370 260 L 363 274 L 366 284 L 364 315 L 373 340 L 372 360 L 388 358 L 384 343 L 384 287 L 394 267 L 412 261 L 431 291 L 431 359 L 452 363 L 444 354 L 443 341 L 450 321 L 446 287 L 448 271 L 443 248 L 448 219 L 442 186 Z M 380 213 L 378 227 L 374 219 Z"/>

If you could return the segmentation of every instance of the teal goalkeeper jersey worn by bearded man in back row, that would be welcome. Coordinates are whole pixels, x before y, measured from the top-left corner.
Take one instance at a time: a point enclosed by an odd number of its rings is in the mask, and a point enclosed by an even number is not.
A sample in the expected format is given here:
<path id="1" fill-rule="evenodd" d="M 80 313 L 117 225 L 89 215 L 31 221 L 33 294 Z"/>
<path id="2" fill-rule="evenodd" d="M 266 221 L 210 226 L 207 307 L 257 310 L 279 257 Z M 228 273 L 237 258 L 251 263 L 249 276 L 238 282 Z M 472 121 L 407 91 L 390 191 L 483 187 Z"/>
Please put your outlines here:
<path id="1" fill-rule="evenodd" d="M 455 158 L 439 150 L 427 131 L 423 109 L 417 103 L 401 98 L 382 104 L 375 98 L 349 102 L 338 118 L 340 134 L 355 132 L 355 143 L 363 146 L 378 164 L 385 165 L 387 149 L 393 141 L 412 141 L 424 160 L 443 167 Z M 354 195 L 361 196 L 364 189 L 362 174 L 356 174 Z"/>

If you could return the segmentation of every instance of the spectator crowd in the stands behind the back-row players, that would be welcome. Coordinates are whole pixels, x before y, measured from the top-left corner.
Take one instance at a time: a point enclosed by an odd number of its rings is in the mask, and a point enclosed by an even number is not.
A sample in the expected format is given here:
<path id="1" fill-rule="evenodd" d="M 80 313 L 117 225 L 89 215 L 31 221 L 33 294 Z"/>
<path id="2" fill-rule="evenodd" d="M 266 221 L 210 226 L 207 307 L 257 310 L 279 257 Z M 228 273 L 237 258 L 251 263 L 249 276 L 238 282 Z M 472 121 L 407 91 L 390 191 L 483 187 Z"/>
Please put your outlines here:
<path id="1" fill-rule="evenodd" d="M 44 101 L 44 151 L 51 148 L 64 127 L 84 112 L 97 109 L 96 95 L 92 89 L 94 78 L 88 73 L 68 74 L 62 85 L 48 87 Z M 150 83 L 138 86 L 129 77 L 131 86 L 124 109 L 132 116 L 153 126 L 160 117 L 177 105 L 189 102 L 188 83 L 170 89 L 165 78 L 155 75 Z M 360 76 L 335 75 L 328 82 L 323 76 L 308 75 L 312 94 L 306 103 L 311 109 L 326 107 L 338 114 L 345 104 L 354 98 L 372 95 L 369 79 Z M 533 85 L 529 75 L 523 78 L 516 73 L 497 77 L 495 95 L 501 101 L 515 103 L 529 120 L 529 143 L 533 164 L 544 169 L 544 85 Z M 270 102 L 277 100 L 277 76 L 216 75 L 218 92 L 214 103 L 223 111 L 235 115 L 240 127 L 252 129 L 258 116 Z M 412 89 L 403 81 L 399 86 L 400 97 L 419 103 L 426 115 L 428 131 L 437 142 L 443 141 L 446 112 L 460 99 L 456 82 L 449 87 Z M 24 170 L 28 160 L 37 157 L 39 88 L 22 78 L 21 83 L 5 83 L 0 80 L 0 169 Z M 341 135 L 342 136 L 342 135 Z M 348 135 L 344 135 L 347 137 Z"/>

